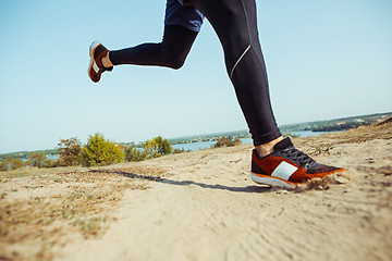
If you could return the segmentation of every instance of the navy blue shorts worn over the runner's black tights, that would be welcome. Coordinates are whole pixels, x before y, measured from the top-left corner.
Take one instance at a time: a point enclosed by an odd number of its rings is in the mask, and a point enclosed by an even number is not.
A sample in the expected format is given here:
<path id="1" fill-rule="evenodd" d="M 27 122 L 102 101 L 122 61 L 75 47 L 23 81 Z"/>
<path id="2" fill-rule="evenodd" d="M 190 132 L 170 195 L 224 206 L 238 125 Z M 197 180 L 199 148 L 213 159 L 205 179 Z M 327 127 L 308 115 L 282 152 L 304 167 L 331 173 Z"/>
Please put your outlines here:
<path id="1" fill-rule="evenodd" d="M 194 32 L 200 32 L 204 14 L 197 9 L 184 8 L 183 0 L 168 0 L 164 25 L 182 25 Z"/>

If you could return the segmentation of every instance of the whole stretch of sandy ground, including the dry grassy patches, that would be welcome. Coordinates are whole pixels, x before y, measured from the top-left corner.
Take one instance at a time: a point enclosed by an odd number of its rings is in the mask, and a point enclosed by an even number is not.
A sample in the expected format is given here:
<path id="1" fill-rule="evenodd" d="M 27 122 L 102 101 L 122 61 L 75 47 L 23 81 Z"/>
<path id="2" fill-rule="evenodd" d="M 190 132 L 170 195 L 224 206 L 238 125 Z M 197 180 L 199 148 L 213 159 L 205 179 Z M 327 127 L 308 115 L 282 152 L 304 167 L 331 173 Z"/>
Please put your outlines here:
<path id="1" fill-rule="evenodd" d="M 252 182 L 250 145 L 2 177 L 0 260 L 392 260 L 391 138 L 389 123 L 293 139 L 347 169 L 295 190 Z"/>

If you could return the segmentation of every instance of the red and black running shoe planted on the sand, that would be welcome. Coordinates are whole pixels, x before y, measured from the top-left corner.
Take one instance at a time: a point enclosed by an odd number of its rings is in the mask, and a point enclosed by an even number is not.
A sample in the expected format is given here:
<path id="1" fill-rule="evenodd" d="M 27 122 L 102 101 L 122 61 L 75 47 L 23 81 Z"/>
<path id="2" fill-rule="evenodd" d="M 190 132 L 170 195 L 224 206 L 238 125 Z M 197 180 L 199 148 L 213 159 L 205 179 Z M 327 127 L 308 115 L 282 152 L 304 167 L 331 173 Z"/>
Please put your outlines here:
<path id="1" fill-rule="evenodd" d="M 279 141 L 274 152 L 260 158 L 256 150 L 252 156 L 250 177 L 255 183 L 295 188 L 315 177 L 324 177 L 344 171 L 317 163 L 304 152 L 294 148 L 290 138 Z"/>

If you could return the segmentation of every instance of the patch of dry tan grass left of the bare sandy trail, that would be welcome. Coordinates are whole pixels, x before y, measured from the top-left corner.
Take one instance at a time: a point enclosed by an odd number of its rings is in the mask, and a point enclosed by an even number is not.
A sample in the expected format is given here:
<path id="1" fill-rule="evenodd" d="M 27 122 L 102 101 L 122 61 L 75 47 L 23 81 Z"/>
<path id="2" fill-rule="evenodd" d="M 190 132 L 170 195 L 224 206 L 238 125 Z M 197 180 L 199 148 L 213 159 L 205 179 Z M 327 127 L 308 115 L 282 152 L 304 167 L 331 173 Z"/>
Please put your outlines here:
<path id="1" fill-rule="evenodd" d="M 1 174 L 0 260 L 50 260 L 68 234 L 101 235 L 125 189 L 147 188 L 145 181 L 107 171 L 59 171 Z M 30 246 L 28 257 L 19 245 Z"/>

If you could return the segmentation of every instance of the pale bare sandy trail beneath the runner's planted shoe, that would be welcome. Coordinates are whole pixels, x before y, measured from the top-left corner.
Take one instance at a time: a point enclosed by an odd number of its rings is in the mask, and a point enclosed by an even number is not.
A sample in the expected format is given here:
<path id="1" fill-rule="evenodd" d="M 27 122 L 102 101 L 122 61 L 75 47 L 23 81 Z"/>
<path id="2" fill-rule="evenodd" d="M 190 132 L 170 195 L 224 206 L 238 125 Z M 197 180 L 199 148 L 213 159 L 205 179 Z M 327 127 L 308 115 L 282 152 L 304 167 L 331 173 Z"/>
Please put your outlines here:
<path id="1" fill-rule="evenodd" d="M 347 167 L 352 181 L 301 192 L 253 184 L 250 149 L 143 162 L 169 177 L 127 191 L 118 222 L 101 238 L 70 244 L 59 260 L 392 259 L 390 139 L 335 142 L 317 159 Z"/>

